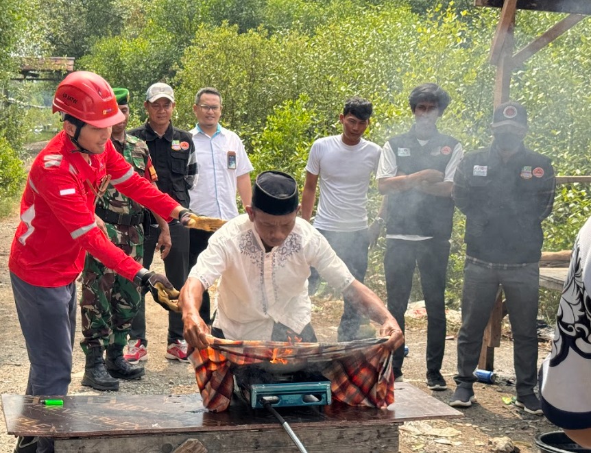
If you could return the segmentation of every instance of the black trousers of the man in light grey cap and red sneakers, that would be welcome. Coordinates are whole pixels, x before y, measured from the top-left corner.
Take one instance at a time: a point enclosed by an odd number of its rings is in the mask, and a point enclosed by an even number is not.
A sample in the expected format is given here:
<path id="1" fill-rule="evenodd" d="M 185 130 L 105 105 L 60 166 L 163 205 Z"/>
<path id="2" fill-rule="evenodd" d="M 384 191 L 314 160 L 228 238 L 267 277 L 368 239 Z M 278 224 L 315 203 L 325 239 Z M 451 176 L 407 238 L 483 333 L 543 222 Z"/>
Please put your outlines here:
<path id="1" fill-rule="evenodd" d="M 169 228 L 172 247 L 168 256 L 164 259 L 165 273 L 173 286 L 180 290 L 189 275 L 189 229 L 178 221 L 169 223 Z M 144 242 L 144 267 L 146 269 L 149 269 L 152 265 L 159 234 L 160 228 L 156 228 L 154 225 L 150 226 L 149 235 L 146 236 Z M 143 345 L 147 345 L 145 295 L 142 295 L 138 314 L 132 322 L 130 339 L 139 339 Z M 182 339 L 182 315 L 169 311 L 168 343 L 180 339 Z"/>

